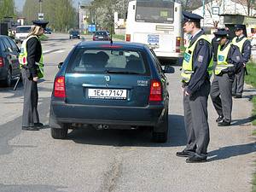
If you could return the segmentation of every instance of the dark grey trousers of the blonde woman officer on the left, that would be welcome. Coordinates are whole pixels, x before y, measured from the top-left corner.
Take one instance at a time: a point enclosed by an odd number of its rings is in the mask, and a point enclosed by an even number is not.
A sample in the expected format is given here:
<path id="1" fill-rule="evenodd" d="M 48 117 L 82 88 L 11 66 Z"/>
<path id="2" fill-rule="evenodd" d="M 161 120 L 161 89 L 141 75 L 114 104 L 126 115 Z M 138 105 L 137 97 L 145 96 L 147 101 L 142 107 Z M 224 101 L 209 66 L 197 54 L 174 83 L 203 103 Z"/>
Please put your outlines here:
<path id="1" fill-rule="evenodd" d="M 27 78 L 28 69 L 22 68 L 22 80 L 24 85 L 24 104 L 22 126 L 32 126 L 39 122 L 38 116 L 38 83 Z"/>

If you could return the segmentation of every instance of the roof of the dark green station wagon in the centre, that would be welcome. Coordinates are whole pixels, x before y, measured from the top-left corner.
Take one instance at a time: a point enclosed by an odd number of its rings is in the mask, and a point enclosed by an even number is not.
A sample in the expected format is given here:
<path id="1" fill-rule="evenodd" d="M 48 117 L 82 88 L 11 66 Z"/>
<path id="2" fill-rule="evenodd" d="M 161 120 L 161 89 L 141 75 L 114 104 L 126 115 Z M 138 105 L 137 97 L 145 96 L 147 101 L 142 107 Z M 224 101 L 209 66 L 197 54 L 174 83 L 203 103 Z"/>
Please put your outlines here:
<path id="1" fill-rule="evenodd" d="M 82 41 L 77 45 L 79 48 L 85 47 L 85 48 L 108 48 L 108 46 L 111 46 L 110 41 Z M 122 47 L 126 49 L 144 49 L 145 44 L 140 43 L 131 43 L 131 42 L 125 42 L 125 41 L 114 41 L 112 44 L 112 47 L 118 46 L 116 48 Z M 110 47 L 109 47 L 110 48 Z"/>

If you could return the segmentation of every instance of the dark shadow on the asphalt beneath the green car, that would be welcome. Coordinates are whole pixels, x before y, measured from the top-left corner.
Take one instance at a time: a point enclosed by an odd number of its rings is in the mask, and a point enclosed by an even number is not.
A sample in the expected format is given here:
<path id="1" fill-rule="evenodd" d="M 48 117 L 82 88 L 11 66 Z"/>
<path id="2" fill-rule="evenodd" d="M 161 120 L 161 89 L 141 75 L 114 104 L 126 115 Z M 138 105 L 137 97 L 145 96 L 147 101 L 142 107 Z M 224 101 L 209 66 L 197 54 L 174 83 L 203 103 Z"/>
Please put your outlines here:
<path id="1" fill-rule="evenodd" d="M 150 128 L 138 130 L 96 130 L 93 127 L 74 129 L 68 139 L 75 143 L 91 145 L 174 147 L 185 145 L 186 135 L 183 116 L 169 114 L 169 137 L 167 143 L 153 143 Z"/>

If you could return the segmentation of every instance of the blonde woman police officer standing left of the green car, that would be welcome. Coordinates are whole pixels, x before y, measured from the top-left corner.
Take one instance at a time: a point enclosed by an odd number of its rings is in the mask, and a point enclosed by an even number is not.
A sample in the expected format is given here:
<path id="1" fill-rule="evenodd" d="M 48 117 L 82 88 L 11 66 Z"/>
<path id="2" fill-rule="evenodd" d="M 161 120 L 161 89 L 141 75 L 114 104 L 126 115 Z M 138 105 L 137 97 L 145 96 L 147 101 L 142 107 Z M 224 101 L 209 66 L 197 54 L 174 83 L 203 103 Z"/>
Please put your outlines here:
<path id="1" fill-rule="evenodd" d="M 38 115 L 38 79 L 44 77 L 43 50 L 39 37 L 48 22 L 33 21 L 34 26 L 20 49 L 19 61 L 24 84 L 22 130 L 38 131 L 44 126 Z"/>

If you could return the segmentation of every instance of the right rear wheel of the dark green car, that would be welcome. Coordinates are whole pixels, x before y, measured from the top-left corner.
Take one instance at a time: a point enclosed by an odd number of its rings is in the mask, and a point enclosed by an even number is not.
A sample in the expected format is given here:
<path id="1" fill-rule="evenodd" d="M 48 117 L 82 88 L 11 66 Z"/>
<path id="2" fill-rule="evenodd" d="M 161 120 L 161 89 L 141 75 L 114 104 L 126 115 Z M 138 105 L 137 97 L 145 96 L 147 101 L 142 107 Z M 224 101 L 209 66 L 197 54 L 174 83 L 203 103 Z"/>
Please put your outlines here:
<path id="1" fill-rule="evenodd" d="M 168 139 L 168 113 L 160 125 L 154 127 L 152 132 L 152 140 L 156 143 L 166 143 Z"/>

